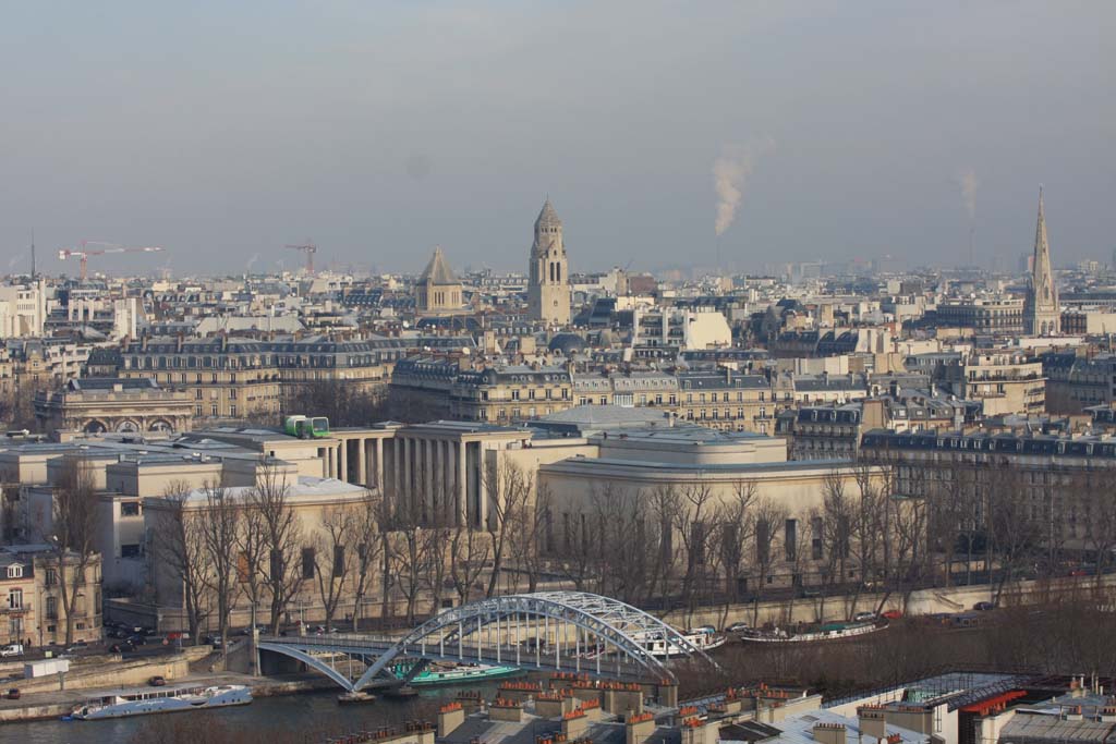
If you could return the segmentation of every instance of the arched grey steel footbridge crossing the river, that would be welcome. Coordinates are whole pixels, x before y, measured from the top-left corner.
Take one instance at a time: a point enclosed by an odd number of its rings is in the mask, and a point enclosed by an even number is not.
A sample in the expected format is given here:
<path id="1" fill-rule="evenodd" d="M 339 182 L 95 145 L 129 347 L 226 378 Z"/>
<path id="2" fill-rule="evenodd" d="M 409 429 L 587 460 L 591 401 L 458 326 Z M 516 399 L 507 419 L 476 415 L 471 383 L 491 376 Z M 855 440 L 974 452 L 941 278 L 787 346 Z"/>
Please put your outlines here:
<path id="1" fill-rule="evenodd" d="M 656 644 L 657 641 L 657 644 Z M 579 591 L 507 595 L 444 610 L 403 638 L 337 634 L 261 637 L 259 649 L 304 661 L 350 692 L 410 682 L 430 661 L 589 673 L 628 680 L 674 679 L 648 648 L 716 664 L 658 618 L 619 600 Z M 340 657 L 340 658 L 338 658 Z M 339 669 L 338 661 L 348 670 Z M 397 678 L 393 661 L 411 659 Z M 355 680 L 353 661 L 364 671 Z M 358 667 L 359 668 L 359 667 Z"/>

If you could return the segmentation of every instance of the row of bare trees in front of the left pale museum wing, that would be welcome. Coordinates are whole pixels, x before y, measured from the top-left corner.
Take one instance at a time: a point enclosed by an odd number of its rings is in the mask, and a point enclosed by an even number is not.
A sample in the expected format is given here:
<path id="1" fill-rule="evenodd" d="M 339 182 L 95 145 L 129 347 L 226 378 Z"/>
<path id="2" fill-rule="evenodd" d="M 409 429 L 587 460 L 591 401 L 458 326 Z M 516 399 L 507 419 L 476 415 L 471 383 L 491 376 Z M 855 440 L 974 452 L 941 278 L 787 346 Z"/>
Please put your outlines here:
<path id="1" fill-rule="evenodd" d="M 199 639 L 212 618 L 228 640 L 232 610 L 243 598 L 253 613 L 267 611 L 278 632 L 296 598 L 317 595 L 326 622 L 343 600 L 354 601 L 353 622 L 379 568 L 383 543 L 381 500 L 366 492 L 357 501 L 320 509 L 309 521 L 298 513 L 281 472 L 264 464 L 257 484 L 233 493 L 217 483 L 193 490 L 171 483 L 152 535 L 155 571 L 181 586 L 190 635 Z M 166 599 L 166 598 L 164 598 Z"/>

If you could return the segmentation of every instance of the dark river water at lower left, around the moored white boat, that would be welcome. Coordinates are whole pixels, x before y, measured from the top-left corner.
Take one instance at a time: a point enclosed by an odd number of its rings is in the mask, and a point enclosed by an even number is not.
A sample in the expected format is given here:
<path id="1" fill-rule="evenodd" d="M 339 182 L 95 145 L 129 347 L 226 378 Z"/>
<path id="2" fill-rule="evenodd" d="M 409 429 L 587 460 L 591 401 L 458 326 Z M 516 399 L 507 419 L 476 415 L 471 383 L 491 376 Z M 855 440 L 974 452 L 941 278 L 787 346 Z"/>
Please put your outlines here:
<path id="1" fill-rule="evenodd" d="M 491 697 L 494 684 L 469 685 L 483 696 Z M 262 731 L 345 732 L 397 725 L 402 721 L 421 718 L 433 722 L 435 708 L 443 698 L 452 698 L 456 687 L 422 689 L 415 698 L 393 699 L 378 696 L 373 703 L 338 705 L 337 690 L 261 697 L 251 705 L 180 713 L 176 716 L 213 716 L 230 728 L 242 729 L 246 742 L 258 741 Z M 170 715 L 170 714 L 167 714 Z M 0 742 L 26 744 L 128 744 L 136 733 L 154 716 L 137 716 L 116 721 L 37 721 L 0 725 Z M 315 737 L 316 740 L 317 737 Z M 198 744 L 204 744 L 199 742 Z"/>

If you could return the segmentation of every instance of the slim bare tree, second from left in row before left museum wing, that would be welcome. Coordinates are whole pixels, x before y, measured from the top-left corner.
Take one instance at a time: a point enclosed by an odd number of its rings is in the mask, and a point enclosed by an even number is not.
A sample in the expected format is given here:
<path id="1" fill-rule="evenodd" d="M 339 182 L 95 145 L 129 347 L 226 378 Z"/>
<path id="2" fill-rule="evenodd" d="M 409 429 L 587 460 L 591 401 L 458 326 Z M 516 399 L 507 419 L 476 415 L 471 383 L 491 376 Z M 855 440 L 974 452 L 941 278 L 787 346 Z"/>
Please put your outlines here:
<path id="1" fill-rule="evenodd" d="M 221 658 L 229 642 L 229 616 L 237 590 L 238 538 L 242 510 L 228 491 L 217 483 L 203 486 L 205 504 L 199 514 L 199 529 L 205 552 L 205 580 L 217 598 L 218 631 L 221 635 Z"/>

